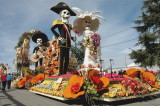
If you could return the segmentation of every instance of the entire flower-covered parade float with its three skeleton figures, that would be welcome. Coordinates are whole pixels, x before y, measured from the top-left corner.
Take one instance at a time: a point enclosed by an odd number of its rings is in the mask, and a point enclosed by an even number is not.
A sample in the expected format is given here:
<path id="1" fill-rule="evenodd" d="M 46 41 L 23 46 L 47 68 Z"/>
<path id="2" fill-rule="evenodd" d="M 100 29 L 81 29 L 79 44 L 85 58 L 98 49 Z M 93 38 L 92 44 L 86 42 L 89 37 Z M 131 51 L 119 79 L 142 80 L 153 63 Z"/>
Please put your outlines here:
<path id="1" fill-rule="evenodd" d="M 20 40 L 17 44 L 15 63 L 19 70 L 24 70 L 21 71 L 24 77 L 18 80 L 18 88 L 28 84 L 28 89 L 36 94 L 58 100 L 83 99 L 92 105 L 94 105 L 94 99 L 118 101 L 159 93 L 160 72 L 154 73 L 144 69 L 130 68 L 124 75 L 102 74 L 101 37 L 96 31 L 100 25 L 99 19 L 104 18 L 98 15 L 99 11 L 84 12 L 74 7 L 73 10 L 78 12 L 76 15 L 63 2 L 53 6 L 51 10 L 59 14 L 61 20 L 53 21 L 51 31 L 54 37 L 49 41 L 45 50 L 40 45 L 46 43 L 48 39 L 42 32 L 25 33 L 22 35 L 23 41 Z M 73 27 L 69 24 L 70 16 L 77 16 Z M 58 32 L 55 30 L 56 28 Z M 83 36 L 82 44 L 85 48 L 85 56 L 82 64 L 78 64 L 74 56 L 69 56 L 71 40 L 76 40 L 71 36 L 71 29 L 79 36 Z M 24 39 L 26 34 L 28 41 Z M 38 49 L 35 48 L 36 52 L 33 53 L 33 58 L 30 58 L 35 63 L 34 71 L 22 67 L 28 67 L 28 61 L 30 61 L 26 55 L 23 55 L 25 50 L 28 56 L 28 49 L 23 48 L 27 46 L 26 44 L 31 38 L 38 47 Z M 44 39 L 45 42 L 43 42 Z"/>

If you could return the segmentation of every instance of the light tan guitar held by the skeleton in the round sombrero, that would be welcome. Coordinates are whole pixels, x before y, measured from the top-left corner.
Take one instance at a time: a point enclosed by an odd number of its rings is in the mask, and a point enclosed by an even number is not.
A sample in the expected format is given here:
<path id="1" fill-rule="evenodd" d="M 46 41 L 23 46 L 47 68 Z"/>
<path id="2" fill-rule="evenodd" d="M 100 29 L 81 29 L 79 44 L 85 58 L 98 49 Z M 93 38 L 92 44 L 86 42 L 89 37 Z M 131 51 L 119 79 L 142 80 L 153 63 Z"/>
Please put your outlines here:
<path id="1" fill-rule="evenodd" d="M 47 52 L 47 51 L 44 51 L 44 52 L 38 51 L 38 52 L 36 53 L 37 56 L 35 56 L 34 54 L 32 54 L 32 55 L 30 56 L 30 60 L 31 60 L 32 62 L 36 63 L 36 62 L 38 62 L 39 59 L 43 58 L 43 56 L 45 55 L 46 52 Z"/>

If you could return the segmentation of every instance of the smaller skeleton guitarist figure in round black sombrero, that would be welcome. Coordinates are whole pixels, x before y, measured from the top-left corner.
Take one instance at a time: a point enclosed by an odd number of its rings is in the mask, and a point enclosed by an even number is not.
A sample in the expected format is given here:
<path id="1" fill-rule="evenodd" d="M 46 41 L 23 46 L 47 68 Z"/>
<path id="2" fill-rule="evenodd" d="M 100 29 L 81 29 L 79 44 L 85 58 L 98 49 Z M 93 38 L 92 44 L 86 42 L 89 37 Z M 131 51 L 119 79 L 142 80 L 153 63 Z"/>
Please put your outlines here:
<path id="1" fill-rule="evenodd" d="M 48 42 L 48 37 L 38 31 L 32 36 L 33 42 L 37 43 L 37 46 L 33 50 L 33 55 L 31 60 L 35 62 L 35 68 L 43 64 L 43 54 L 46 51 L 46 43 Z"/>

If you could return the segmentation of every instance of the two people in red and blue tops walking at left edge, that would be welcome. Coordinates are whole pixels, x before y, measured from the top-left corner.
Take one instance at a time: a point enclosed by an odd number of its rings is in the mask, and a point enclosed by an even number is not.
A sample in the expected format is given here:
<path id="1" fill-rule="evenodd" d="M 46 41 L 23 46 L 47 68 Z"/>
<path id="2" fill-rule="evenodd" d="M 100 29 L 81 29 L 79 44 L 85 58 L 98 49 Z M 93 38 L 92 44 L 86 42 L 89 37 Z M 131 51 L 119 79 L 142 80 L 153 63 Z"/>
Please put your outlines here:
<path id="1" fill-rule="evenodd" d="M 0 78 L 0 88 L 2 91 L 11 89 L 11 81 L 12 81 L 12 75 L 10 73 L 6 74 L 3 73 L 1 78 Z"/>

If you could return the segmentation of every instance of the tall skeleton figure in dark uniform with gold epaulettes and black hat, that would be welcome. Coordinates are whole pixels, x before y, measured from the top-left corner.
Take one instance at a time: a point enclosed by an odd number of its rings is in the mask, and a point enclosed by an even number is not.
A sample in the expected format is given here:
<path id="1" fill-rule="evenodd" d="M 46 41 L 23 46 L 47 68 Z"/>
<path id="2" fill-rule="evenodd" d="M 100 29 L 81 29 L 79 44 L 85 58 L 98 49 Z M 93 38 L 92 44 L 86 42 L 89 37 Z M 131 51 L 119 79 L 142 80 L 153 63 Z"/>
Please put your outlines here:
<path id="1" fill-rule="evenodd" d="M 69 49 L 71 47 L 71 39 L 76 40 L 76 37 L 71 37 L 70 31 L 72 26 L 69 24 L 69 17 L 76 16 L 76 14 L 63 2 L 58 3 L 51 8 L 52 11 L 59 14 L 61 20 L 55 20 L 51 28 L 55 37 L 58 39 L 60 48 L 59 53 L 59 75 L 66 74 L 69 65 Z M 58 28 L 59 33 L 56 32 Z"/>

